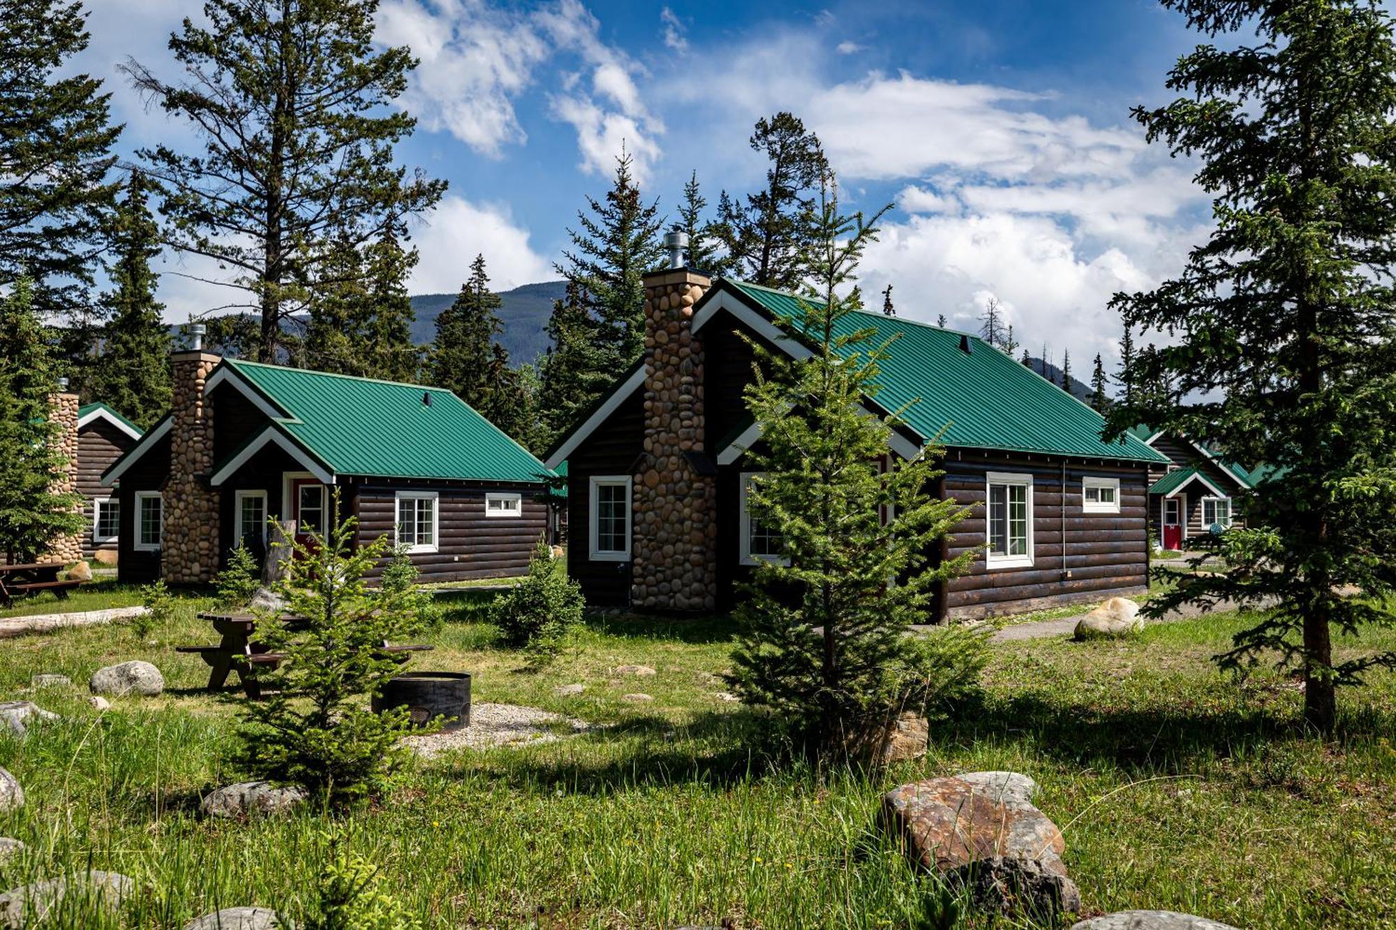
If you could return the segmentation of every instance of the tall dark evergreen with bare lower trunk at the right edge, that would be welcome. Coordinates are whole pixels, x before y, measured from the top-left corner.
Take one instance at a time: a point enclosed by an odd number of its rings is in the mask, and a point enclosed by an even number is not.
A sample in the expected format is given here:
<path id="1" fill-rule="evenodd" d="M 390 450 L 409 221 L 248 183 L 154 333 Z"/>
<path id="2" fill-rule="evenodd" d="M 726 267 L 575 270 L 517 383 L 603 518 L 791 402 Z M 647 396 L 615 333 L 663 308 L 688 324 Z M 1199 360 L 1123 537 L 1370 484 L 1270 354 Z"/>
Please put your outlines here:
<path id="1" fill-rule="evenodd" d="M 1178 60 L 1178 99 L 1135 116 L 1150 141 L 1199 159 L 1216 229 L 1175 279 L 1115 296 L 1127 325 L 1178 342 L 1129 366 L 1136 385 L 1175 378 L 1175 402 L 1136 399 L 1113 426 L 1224 441 L 1283 478 L 1244 501 L 1247 529 L 1210 543 L 1231 571 L 1189 580 L 1150 609 L 1263 605 L 1222 663 L 1277 655 L 1302 670 L 1305 719 L 1326 733 L 1336 686 L 1396 665 L 1356 642 L 1392 623 L 1396 595 L 1392 21 L 1356 0 L 1166 6 L 1220 40 Z M 1252 31 L 1258 42 L 1240 35 Z M 1333 630 L 1349 638 L 1339 656 Z"/>

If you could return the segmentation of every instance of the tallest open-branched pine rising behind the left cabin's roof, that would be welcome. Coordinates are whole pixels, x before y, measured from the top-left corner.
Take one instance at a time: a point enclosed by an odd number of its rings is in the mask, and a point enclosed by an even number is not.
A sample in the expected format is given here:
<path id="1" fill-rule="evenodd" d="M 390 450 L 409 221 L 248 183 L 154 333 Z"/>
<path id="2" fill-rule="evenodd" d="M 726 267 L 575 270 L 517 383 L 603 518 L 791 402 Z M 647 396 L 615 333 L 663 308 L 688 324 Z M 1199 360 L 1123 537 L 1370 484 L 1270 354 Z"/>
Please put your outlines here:
<path id="1" fill-rule="evenodd" d="M 394 161 L 416 123 L 394 106 L 416 61 L 406 47 L 373 50 L 376 8 L 205 0 L 208 27 L 186 18 L 170 36 L 183 82 L 124 66 L 138 91 L 202 140 L 198 154 L 158 145 L 140 155 L 166 190 L 172 244 L 215 258 L 230 270 L 228 283 L 247 290 L 262 362 L 282 360 L 282 324 L 304 309 L 306 282 L 324 276 L 331 239 L 369 249 L 445 190 Z"/>

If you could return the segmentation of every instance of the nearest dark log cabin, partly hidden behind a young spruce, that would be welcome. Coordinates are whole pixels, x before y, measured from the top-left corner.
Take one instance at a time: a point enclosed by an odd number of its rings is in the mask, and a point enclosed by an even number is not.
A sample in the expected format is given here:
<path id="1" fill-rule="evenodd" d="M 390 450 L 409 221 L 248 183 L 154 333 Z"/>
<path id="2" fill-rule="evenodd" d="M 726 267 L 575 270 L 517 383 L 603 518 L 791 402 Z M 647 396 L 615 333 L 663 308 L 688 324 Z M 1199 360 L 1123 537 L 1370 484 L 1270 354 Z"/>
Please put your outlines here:
<path id="1" fill-rule="evenodd" d="M 544 459 L 568 466 L 567 567 L 591 603 L 725 610 L 757 560 L 779 557 L 745 510 L 745 455 L 761 430 L 743 390 L 748 341 L 810 355 L 782 327 L 799 311 L 793 295 L 683 267 L 645 278 L 642 359 Z M 940 437 L 935 492 L 970 508 L 931 557 L 973 552 L 973 570 L 927 620 L 1146 589 L 1160 452 L 1134 436 L 1106 443 L 1099 413 L 976 335 L 875 313 L 846 325 L 898 339 L 867 399 L 872 412 L 912 405 L 889 455 L 920 455 Z"/>

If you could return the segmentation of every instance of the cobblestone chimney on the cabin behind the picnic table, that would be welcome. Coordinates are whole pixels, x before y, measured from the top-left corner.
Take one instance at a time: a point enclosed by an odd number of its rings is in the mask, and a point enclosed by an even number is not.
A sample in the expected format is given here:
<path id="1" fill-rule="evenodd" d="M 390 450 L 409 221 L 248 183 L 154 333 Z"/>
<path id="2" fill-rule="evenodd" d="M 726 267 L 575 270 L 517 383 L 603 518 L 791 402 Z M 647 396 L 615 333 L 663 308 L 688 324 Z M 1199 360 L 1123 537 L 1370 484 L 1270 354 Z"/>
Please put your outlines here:
<path id="1" fill-rule="evenodd" d="M 208 485 L 214 473 L 214 423 L 204 383 L 219 362 L 219 356 L 198 348 L 170 356 L 170 476 L 162 492 L 161 538 L 161 568 L 170 584 L 208 584 L 218 574 L 218 489 Z"/>

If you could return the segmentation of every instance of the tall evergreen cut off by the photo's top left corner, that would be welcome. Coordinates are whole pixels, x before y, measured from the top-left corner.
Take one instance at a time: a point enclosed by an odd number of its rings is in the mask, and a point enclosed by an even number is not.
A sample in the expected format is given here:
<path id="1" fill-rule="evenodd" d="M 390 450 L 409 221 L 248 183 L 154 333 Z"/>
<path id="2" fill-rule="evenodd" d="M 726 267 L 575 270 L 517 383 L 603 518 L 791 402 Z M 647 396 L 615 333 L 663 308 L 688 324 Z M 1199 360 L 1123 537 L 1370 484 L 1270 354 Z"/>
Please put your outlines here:
<path id="1" fill-rule="evenodd" d="M 75 311 L 91 335 L 87 288 L 121 127 L 101 80 L 57 77 L 87 45 L 81 3 L 0 0 L 0 286 L 28 278 L 40 318 Z"/>

